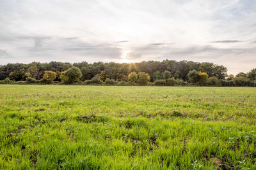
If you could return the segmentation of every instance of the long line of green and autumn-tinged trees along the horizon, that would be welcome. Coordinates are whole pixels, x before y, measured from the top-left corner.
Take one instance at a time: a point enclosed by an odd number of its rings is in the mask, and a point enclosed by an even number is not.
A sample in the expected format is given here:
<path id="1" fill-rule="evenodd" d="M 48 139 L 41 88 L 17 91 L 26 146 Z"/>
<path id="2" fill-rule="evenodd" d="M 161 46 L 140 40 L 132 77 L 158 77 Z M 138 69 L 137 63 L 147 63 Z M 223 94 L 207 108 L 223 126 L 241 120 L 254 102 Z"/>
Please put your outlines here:
<path id="1" fill-rule="evenodd" d="M 256 86 L 256 68 L 236 76 L 211 62 L 31 62 L 0 66 L 0 83 Z"/>

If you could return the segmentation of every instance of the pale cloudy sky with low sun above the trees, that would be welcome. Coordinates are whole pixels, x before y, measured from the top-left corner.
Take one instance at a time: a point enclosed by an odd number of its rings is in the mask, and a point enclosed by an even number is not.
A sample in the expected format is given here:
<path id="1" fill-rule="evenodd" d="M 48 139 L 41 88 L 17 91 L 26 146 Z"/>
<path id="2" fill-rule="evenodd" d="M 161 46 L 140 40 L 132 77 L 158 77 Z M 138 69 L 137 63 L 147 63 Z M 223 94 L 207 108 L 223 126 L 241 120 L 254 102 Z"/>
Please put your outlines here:
<path id="1" fill-rule="evenodd" d="M 0 0 L 0 64 L 214 62 L 256 67 L 256 0 Z"/>

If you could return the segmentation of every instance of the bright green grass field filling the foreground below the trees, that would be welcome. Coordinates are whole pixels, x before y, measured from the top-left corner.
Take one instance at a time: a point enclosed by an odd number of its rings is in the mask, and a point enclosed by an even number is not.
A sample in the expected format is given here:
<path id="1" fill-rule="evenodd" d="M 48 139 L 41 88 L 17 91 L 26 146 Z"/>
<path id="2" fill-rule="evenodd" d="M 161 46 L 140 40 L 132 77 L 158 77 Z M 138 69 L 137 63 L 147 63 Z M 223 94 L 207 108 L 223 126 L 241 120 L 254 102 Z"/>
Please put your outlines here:
<path id="1" fill-rule="evenodd" d="M 256 88 L 0 85 L 0 169 L 256 169 Z"/>

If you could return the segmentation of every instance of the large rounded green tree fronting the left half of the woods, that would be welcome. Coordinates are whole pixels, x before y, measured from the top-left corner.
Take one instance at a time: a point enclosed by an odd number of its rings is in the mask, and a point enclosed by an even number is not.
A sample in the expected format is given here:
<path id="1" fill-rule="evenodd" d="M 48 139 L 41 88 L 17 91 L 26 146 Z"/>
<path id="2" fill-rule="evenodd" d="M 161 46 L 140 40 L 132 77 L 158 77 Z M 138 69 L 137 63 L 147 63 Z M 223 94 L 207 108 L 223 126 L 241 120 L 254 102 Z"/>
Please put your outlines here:
<path id="1" fill-rule="evenodd" d="M 75 66 L 72 66 L 67 71 L 62 73 L 61 81 L 63 81 L 63 83 L 74 83 L 80 81 L 81 76 L 81 70 Z"/>

